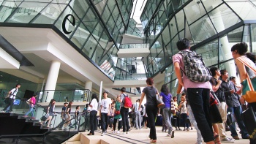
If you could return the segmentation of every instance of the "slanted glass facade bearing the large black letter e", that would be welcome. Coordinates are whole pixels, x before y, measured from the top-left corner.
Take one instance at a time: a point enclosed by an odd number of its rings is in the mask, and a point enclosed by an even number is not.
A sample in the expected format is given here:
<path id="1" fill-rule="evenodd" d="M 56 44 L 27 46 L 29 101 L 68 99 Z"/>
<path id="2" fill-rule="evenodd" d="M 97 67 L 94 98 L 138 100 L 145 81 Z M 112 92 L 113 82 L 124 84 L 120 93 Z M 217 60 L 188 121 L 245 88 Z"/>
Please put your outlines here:
<path id="1" fill-rule="evenodd" d="M 1 26 L 48 27 L 114 80 L 132 1 L 0 1 Z M 22 24 L 24 23 L 24 24 Z"/>

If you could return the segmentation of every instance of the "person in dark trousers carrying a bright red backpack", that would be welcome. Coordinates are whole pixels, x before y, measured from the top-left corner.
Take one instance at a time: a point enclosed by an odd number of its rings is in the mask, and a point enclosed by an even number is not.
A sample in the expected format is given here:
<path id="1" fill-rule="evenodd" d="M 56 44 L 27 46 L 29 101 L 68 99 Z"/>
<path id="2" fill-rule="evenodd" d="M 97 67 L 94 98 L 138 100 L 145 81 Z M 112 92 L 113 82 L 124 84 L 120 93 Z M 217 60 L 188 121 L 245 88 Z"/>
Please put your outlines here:
<path id="1" fill-rule="evenodd" d="M 132 107 L 132 102 L 129 99 L 128 95 L 125 94 L 125 88 L 121 88 L 121 94 L 120 94 L 120 113 L 121 113 L 121 118 L 122 118 L 122 123 L 123 123 L 123 134 L 128 134 L 129 133 L 129 121 L 128 121 L 128 112 L 129 108 Z"/>

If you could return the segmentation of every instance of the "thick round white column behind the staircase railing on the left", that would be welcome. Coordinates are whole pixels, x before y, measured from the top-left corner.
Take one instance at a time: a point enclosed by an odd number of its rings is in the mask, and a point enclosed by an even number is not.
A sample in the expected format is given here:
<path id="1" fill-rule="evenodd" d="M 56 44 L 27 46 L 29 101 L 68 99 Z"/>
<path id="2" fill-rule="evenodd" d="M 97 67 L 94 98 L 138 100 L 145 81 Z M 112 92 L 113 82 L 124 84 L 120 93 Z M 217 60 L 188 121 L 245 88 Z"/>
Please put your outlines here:
<path id="1" fill-rule="evenodd" d="M 52 63 L 50 64 L 50 70 L 48 73 L 45 90 L 55 90 L 60 67 L 61 62 L 59 61 L 52 61 Z M 53 99 L 53 94 L 54 91 L 45 91 L 44 96 L 42 98 L 42 102 L 45 102 L 45 99 L 47 100 L 47 102 L 50 102 L 50 99 Z"/>

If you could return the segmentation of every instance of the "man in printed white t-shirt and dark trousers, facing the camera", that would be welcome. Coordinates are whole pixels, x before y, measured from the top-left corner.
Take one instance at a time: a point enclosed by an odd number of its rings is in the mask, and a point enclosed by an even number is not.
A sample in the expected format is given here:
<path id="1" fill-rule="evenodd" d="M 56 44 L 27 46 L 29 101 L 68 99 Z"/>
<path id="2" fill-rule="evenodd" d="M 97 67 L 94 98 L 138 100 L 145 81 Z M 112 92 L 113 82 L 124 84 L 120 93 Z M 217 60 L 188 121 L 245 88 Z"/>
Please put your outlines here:
<path id="1" fill-rule="evenodd" d="M 110 116 L 110 109 L 111 109 L 111 99 L 108 98 L 108 92 L 104 91 L 103 94 L 104 98 L 102 99 L 100 105 L 100 118 L 102 119 L 102 136 L 104 136 L 108 129 L 108 119 Z"/>

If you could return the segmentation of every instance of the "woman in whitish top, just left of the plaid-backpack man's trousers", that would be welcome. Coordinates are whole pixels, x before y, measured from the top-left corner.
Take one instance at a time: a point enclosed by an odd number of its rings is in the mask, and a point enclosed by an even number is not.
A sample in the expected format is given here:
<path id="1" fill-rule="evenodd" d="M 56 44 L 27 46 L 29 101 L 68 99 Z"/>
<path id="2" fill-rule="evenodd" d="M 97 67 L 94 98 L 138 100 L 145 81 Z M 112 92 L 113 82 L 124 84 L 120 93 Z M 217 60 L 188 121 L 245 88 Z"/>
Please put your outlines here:
<path id="1" fill-rule="evenodd" d="M 189 124 L 186 123 L 186 119 L 187 119 L 187 101 L 186 101 L 186 94 L 182 94 L 181 96 L 181 102 L 178 106 L 178 108 L 181 110 L 181 119 L 183 120 L 184 123 L 184 129 L 183 131 L 185 131 L 185 127 L 187 127 L 187 131 L 189 131 Z"/>

